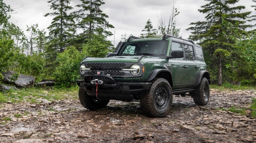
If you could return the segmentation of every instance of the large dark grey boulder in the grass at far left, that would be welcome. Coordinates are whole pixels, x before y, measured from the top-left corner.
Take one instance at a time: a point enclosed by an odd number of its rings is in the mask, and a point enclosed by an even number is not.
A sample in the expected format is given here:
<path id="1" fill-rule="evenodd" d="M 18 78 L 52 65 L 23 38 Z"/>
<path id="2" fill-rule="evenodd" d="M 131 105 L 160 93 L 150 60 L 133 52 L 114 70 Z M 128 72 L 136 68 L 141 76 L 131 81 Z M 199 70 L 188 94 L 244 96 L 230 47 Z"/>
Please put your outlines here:
<path id="1" fill-rule="evenodd" d="M 14 71 L 7 71 L 7 72 L 2 73 L 2 75 L 4 76 L 4 82 L 15 84 L 18 87 L 33 87 L 34 86 L 34 82 L 35 82 L 34 76 L 19 74 L 16 81 L 12 81 L 11 77 L 13 74 L 15 74 Z"/>

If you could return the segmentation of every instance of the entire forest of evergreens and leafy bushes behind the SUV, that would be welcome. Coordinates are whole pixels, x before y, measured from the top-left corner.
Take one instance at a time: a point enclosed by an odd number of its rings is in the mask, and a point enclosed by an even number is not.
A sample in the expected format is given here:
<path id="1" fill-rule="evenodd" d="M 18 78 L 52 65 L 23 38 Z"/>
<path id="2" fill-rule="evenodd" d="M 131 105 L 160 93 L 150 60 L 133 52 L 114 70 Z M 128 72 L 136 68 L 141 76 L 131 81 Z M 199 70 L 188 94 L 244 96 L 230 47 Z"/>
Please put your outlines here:
<path id="1" fill-rule="evenodd" d="M 50 79 L 60 87 L 75 85 L 79 78 L 78 65 L 85 56 L 104 57 L 114 45 L 108 37 L 115 29 L 101 10 L 103 0 L 79 0 L 73 7 L 71 0 L 50 0 L 45 17 L 53 17 L 51 24 L 39 29 L 38 24 L 27 25 L 22 31 L 10 22 L 18 8 L 0 0 L 0 78 L 8 70 L 36 77 L 36 81 Z M 256 84 L 256 1 L 253 11 L 245 11 L 239 0 L 205 0 L 198 10 L 204 21 L 191 22 L 187 31 L 190 40 L 203 47 L 205 62 L 212 83 Z M 156 14 L 157 25 L 150 19 L 141 27 L 140 37 L 162 37 L 171 34 L 181 37 L 177 25 L 179 9 L 170 1 L 170 13 Z M 125 16 L 125 15 L 124 15 Z M 186 19 L 186 18 L 182 18 Z M 136 25 L 138 26 L 138 25 Z M 157 28 L 154 28 L 157 27 Z M 131 34 L 121 34 L 126 40 Z"/>

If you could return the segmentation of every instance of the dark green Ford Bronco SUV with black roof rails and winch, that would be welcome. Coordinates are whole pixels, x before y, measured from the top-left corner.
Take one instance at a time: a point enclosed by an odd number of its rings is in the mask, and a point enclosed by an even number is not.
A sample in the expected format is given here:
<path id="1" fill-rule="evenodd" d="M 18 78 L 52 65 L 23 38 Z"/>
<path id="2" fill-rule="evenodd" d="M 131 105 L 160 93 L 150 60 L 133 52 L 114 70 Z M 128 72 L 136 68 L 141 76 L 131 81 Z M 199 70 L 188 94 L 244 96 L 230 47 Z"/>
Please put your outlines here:
<path id="1" fill-rule="evenodd" d="M 80 77 L 79 100 L 89 110 L 104 108 L 109 100 L 136 99 L 147 116 L 165 117 L 173 94 L 189 95 L 197 105 L 206 105 L 210 96 L 202 47 L 167 34 L 131 36 L 104 58 L 85 57 Z"/>

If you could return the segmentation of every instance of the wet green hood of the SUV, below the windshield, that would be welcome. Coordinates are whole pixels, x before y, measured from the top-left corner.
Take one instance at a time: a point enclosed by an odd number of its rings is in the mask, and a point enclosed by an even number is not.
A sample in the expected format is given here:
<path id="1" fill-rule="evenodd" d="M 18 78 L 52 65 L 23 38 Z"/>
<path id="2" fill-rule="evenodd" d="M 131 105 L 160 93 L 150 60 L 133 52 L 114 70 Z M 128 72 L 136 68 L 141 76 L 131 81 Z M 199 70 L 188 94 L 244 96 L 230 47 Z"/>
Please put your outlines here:
<path id="1" fill-rule="evenodd" d="M 107 58 L 93 58 L 88 57 L 85 58 L 82 63 L 84 62 L 138 62 L 141 56 L 111 56 Z"/>

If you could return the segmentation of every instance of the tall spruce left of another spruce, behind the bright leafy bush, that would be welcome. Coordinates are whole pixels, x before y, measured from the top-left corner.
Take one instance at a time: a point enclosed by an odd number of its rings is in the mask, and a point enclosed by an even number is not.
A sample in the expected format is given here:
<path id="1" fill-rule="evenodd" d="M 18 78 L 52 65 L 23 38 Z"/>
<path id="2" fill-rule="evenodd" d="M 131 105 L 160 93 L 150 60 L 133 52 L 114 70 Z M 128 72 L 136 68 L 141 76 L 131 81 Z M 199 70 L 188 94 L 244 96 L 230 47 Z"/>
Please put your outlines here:
<path id="1" fill-rule="evenodd" d="M 53 21 L 49 27 L 47 47 L 45 49 L 47 64 L 46 67 L 50 67 L 53 70 L 53 66 L 56 65 L 57 53 L 62 53 L 69 45 L 69 39 L 75 35 L 75 21 L 72 14 L 68 14 L 68 11 L 73 9 L 69 6 L 71 0 L 50 0 L 50 9 L 54 12 L 47 13 L 44 16 L 54 16 Z"/>

